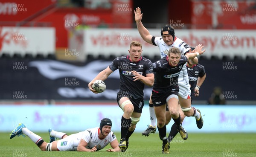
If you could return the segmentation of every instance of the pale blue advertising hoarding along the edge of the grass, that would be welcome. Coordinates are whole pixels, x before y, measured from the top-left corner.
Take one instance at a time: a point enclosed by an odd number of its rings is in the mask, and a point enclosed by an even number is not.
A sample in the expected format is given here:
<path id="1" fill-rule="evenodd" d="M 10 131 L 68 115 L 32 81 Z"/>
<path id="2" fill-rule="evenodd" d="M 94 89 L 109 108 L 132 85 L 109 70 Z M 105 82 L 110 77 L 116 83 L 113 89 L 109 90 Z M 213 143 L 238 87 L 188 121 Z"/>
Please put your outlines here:
<path id="1" fill-rule="evenodd" d="M 188 133 L 225 133 L 256 132 L 256 106 L 250 105 L 198 105 L 204 119 L 204 126 L 198 129 L 194 117 L 186 117 L 183 127 Z M 113 114 L 114 113 L 114 114 Z M 56 131 L 83 131 L 99 126 L 102 118 L 112 120 L 112 130 L 120 131 L 123 111 L 117 104 L 113 105 L 1 105 L 0 131 L 11 131 L 23 122 L 29 129 L 47 132 L 48 128 Z M 143 108 L 136 132 L 142 132 L 150 123 L 148 105 Z M 167 125 L 170 130 L 173 120 Z"/>

